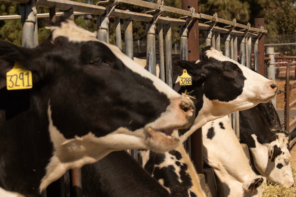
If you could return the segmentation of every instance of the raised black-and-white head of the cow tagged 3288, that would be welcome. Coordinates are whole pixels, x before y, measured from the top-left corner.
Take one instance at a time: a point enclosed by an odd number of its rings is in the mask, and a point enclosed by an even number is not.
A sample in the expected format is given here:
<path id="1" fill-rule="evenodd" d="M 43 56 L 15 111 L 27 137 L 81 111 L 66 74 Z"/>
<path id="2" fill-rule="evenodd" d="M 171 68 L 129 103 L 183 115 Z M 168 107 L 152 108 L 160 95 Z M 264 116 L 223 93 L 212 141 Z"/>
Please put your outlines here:
<path id="1" fill-rule="evenodd" d="M 179 76 L 184 69 L 192 77 L 192 85 L 179 85 Z M 202 57 L 195 63 L 175 61 L 173 80 L 176 91 L 186 91 L 196 98 L 195 123 L 189 131 L 180 132 L 181 135 L 186 132 L 185 138 L 208 121 L 268 102 L 278 91 L 278 85 L 274 81 L 209 46 L 204 48 Z"/>

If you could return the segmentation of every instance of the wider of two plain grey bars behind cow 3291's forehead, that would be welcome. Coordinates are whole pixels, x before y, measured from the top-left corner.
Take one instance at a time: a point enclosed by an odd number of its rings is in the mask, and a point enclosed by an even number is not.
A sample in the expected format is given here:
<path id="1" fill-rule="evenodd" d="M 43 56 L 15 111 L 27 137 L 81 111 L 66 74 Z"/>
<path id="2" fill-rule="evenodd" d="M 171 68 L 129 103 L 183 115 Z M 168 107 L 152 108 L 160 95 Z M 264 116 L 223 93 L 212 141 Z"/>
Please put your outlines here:
<path id="1" fill-rule="evenodd" d="M 134 59 L 133 23 L 132 18 L 124 19 L 125 54 Z"/>

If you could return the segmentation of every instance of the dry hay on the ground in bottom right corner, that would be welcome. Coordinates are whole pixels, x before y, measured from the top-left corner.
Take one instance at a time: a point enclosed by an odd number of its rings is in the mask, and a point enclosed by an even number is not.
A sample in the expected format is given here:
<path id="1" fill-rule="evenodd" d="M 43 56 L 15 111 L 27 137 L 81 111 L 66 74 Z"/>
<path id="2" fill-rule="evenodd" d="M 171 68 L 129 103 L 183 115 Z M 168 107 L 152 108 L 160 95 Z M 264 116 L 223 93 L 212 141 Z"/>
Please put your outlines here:
<path id="1" fill-rule="evenodd" d="M 294 182 L 296 183 L 296 167 L 291 166 Z M 296 186 L 291 188 L 286 188 L 282 185 L 271 185 L 267 183 L 263 190 L 262 197 L 295 197 L 296 196 Z"/>

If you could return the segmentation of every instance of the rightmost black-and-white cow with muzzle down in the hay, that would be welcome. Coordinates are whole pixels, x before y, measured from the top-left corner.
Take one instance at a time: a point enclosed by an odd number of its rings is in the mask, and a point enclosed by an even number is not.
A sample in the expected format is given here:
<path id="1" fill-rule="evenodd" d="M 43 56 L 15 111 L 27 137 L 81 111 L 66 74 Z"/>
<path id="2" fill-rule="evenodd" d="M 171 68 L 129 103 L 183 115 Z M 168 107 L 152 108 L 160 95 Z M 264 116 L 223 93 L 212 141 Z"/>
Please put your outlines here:
<path id="1" fill-rule="evenodd" d="M 248 145 L 258 172 L 273 184 L 294 185 L 290 135 L 283 131 L 271 102 L 240 111 L 240 139 Z"/>

